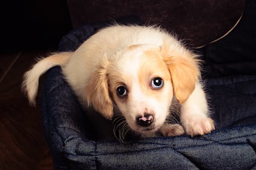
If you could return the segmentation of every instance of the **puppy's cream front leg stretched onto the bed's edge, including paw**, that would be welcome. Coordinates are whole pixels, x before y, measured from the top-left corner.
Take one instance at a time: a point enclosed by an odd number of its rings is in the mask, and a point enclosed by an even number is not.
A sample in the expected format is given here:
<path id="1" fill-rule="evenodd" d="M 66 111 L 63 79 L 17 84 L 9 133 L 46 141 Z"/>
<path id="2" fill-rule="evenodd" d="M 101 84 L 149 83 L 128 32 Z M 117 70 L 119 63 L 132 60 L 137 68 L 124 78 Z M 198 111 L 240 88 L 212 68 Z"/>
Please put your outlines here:
<path id="1" fill-rule="evenodd" d="M 181 123 L 186 134 L 203 135 L 215 130 L 214 121 L 208 116 L 205 93 L 200 83 L 181 106 Z"/>

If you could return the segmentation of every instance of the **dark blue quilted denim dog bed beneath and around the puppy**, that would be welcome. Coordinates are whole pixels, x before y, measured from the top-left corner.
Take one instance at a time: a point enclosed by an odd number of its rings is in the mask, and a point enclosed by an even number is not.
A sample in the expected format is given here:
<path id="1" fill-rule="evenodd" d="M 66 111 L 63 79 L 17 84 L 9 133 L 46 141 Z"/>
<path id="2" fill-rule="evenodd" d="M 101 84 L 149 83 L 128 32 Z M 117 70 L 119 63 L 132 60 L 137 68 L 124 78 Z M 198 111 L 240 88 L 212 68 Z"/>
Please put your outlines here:
<path id="1" fill-rule="evenodd" d="M 41 118 L 54 168 L 256 168 L 255 16 L 255 10 L 247 4 L 234 30 L 197 50 L 205 61 L 203 77 L 216 123 L 216 130 L 207 135 L 145 138 L 128 143 L 98 139 L 60 67 L 48 70 L 41 90 Z M 72 30 L 62 38 L 59 51 L 74 51 L 95 30 L 92 24 Z"/>

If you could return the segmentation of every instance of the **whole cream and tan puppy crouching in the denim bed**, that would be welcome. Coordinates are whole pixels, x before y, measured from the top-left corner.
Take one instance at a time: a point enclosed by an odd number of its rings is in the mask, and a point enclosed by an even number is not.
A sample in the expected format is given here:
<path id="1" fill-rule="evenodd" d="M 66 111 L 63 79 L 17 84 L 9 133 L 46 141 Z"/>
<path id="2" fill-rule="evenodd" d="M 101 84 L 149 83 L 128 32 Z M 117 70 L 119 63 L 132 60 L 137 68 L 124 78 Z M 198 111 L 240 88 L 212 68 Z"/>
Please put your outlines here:
<path id="1" fill-rule="evenodd" d="M 40 75 L 56 65 L 84 107 L 92 106 L 106 119 L 121 114 L 142 137 L 184 131 L 195 136 L 215 129 L 197 55 L 160 28 L 111 26 L 75 52 L 41 59 L 24 76 L 23 89 L 31 104 L 35 104 Z M 167 124 L 177 105 L 181 125 Z"/>

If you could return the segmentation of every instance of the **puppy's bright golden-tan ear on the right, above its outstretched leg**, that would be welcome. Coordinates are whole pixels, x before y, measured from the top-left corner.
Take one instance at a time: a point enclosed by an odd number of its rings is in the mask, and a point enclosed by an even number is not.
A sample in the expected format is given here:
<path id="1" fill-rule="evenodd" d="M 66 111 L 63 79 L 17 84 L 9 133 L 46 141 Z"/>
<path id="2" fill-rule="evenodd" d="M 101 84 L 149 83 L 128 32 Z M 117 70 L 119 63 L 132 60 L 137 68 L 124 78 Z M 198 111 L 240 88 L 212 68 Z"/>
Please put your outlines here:
<path id="1" fill-rule="evenodd" d="M 194 91 L 196 82 L 200 77 L 199 62 L 197 55 L 186 50 L 183 46 L 181 49 L 176 46 L 175 50 L 167 44 L 161 47 L 161 55 L 168 66 L 174 94 L 179 103 L 184 103 L 189 95 Z"/>

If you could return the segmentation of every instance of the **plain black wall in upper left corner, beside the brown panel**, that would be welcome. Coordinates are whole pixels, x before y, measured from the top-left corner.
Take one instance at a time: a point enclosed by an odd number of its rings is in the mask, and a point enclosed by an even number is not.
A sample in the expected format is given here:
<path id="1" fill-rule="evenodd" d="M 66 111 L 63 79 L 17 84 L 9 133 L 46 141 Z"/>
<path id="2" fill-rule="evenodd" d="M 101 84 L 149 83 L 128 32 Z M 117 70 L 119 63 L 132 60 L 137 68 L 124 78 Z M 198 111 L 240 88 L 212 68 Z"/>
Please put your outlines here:
<path id="1" fill-rule="evenodd" d="M 56 48 L 72 29 L 63 0 L 9 1 L 1 6 L 1 51 Z"/>

